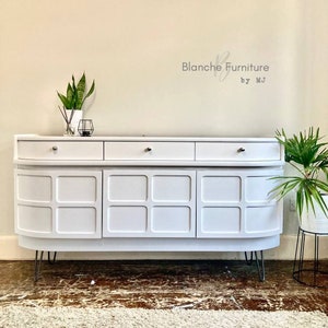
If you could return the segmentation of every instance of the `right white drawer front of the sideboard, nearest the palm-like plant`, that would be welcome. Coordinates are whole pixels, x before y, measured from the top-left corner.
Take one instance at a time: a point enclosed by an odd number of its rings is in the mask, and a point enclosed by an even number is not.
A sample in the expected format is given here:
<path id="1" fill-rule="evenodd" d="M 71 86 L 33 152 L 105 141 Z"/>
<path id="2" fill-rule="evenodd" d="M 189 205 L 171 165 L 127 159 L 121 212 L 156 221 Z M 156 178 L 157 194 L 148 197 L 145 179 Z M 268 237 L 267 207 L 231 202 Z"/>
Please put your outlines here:
<path id="1" fill-rule="evenodd" d="M 278 142 L 197 142 L 197 161 L 280 161 Z"/>

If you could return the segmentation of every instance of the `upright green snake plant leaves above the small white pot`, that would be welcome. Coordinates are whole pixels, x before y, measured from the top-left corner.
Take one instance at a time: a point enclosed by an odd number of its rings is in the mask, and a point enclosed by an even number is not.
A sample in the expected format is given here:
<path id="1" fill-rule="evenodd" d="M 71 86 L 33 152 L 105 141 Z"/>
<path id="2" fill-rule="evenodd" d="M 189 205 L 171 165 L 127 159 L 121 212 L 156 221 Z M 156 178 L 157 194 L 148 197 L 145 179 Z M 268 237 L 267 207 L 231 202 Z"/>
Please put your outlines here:
<path id="1" fill-rule="evenodd" d="M 66 109 L 82 109 L 82 106 L 87 97 L 92 95 L 95 89 L 95 82 L 92 82 L 90 90 L 85 91 L 85 73 L 81 77 L 78 84 L 75 84 L 74 75 L 72 75 L 72 82 L 68 83 L 66 95 L 57 94 Z M 85 94 L 86 93 L 86 94 Z"/>

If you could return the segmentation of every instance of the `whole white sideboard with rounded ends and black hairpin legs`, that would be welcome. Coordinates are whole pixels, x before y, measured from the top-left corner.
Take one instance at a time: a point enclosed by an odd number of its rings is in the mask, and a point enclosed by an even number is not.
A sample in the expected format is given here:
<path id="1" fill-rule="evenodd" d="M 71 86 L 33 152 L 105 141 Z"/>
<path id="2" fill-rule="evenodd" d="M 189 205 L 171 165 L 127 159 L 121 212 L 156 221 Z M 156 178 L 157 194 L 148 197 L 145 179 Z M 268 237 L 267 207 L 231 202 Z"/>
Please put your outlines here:
<path id="1" fill-rule="evenodd" d="M 274 138 L 15 136 L 19 244 L 36 279 L 38 251 L 249 251 L 263 280 L 283 163 Z"/>

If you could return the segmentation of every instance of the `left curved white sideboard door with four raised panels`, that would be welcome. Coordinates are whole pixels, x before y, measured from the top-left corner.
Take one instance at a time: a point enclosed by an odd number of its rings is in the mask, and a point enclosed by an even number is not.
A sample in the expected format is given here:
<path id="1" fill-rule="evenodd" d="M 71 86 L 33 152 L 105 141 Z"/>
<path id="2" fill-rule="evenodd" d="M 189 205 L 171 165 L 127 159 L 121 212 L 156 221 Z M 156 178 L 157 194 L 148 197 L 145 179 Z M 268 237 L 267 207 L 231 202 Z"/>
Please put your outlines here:
<path id="1" fill-rule="evenodd" d="M 99 238 L 102 172 L 15 171 L 15 230 L 49 238 Z"/>

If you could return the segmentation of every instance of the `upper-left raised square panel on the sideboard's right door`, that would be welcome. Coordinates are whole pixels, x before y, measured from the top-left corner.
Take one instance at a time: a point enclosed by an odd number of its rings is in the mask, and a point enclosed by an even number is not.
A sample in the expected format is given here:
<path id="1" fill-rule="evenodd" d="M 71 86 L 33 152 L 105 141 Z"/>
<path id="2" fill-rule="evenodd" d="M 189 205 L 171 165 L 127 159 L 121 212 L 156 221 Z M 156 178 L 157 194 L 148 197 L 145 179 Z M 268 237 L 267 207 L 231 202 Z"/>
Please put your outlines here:
<path id="1" fill-rule="evenodd" d="M 203 176 L 201 200 L 203 202 L 241 201 L 241 178 L 238 176 Z"/>

